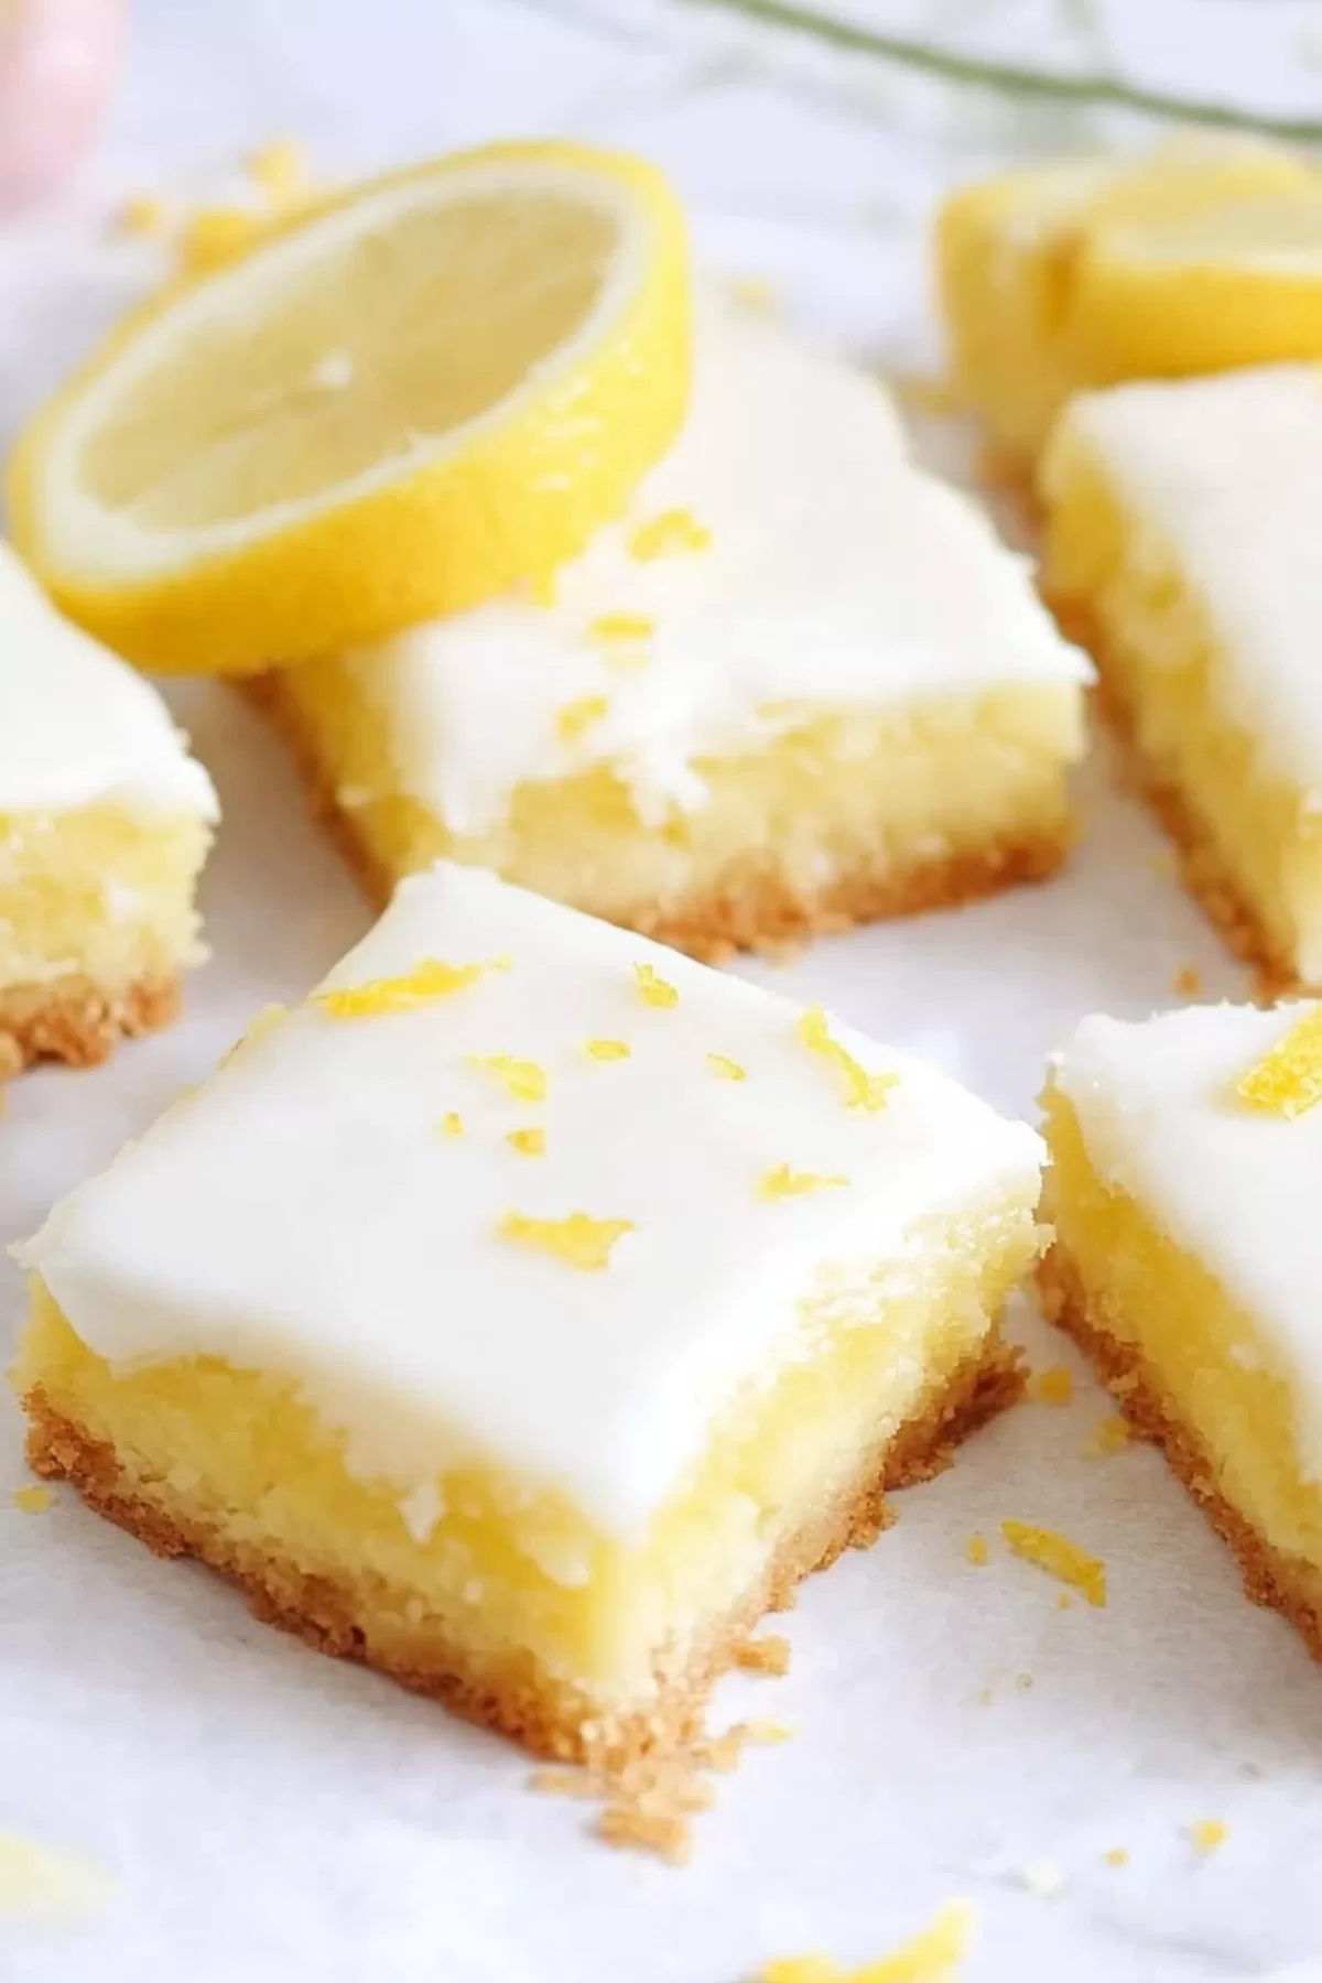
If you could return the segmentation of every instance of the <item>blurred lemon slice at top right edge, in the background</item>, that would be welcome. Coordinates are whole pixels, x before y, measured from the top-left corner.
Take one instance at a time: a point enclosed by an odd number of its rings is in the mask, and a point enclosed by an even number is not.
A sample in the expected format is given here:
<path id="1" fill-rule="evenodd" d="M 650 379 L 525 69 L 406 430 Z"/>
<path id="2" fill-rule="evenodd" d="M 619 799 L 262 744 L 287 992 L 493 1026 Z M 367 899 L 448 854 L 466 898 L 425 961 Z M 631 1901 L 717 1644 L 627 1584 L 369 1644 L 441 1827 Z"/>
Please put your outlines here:
<path id="1" fill-rule="evenodd" d="M 1072 311 L 1098 381 L 1322 357 L 1322 182 L 1096 226 Z"/>

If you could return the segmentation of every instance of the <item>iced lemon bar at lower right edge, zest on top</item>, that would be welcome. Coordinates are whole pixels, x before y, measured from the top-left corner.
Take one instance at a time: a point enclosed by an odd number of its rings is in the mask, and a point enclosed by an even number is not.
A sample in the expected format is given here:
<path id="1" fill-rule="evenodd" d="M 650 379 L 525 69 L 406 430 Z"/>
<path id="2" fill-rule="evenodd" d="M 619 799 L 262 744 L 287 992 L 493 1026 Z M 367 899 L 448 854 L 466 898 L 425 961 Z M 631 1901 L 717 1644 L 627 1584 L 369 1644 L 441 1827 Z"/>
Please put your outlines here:
<path id="1" fill-rule="evenodd" d="M 1048 1315 L 1322 1656 L 1322 1005 L 1084 1019 L 1047 1087 Z"/>

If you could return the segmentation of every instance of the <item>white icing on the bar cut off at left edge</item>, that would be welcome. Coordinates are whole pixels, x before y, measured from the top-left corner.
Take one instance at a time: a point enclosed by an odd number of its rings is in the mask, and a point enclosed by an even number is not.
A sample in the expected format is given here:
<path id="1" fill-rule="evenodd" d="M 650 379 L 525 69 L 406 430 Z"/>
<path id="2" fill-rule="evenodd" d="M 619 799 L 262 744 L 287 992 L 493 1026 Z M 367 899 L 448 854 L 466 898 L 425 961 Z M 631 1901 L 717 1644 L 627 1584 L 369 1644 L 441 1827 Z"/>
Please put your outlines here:
<path id="1" fill-rule="evenodd" d="M 216 817 L 157 690 L 61 619 L 0 543 L 0 813 L 97 801 Z"/>

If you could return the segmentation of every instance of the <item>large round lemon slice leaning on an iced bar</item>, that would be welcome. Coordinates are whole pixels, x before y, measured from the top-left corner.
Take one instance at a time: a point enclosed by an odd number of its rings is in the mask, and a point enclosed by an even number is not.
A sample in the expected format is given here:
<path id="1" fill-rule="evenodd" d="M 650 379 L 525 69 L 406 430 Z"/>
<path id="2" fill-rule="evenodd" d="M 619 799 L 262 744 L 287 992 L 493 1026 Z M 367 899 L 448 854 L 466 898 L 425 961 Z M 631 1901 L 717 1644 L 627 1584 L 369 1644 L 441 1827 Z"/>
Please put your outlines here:
<path id="1" fill-rule="evenodd" d="M 545 583 L 666 450 L 688 383 L 664 178 L 494 145 L 133 315 L 20 438 L 14 535 L 123 654 L 238 674 Z"/>

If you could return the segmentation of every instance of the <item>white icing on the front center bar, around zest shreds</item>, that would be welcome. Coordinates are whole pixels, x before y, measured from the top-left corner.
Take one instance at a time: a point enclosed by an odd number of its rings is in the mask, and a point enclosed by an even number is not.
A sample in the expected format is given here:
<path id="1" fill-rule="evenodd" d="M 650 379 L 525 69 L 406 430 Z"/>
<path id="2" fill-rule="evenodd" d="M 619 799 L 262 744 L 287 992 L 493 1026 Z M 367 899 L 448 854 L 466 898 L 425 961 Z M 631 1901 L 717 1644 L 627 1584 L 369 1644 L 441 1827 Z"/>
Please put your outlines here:
<path id="1" fill-rule="evenodd" d="M 906 1275 L 930 1214 L 1037 1200 L 1027 1124 L 834 1029 L 900 1069 L 884 1108 L 850 1108 L 785 999 L 484 871 L 406 880 L 327 986 L 422 958 L 509 964 L 410 1011 L 313 1001 L 258 1029 L 22 1251 L 117 1364 L 206 1352 L 295 1378 L 412 1521 L 478 1454 L 636 1533 L 739 1386 L 809 1352 L 803 1295 L 848 1295 L 878 1261 Z M 636 964 L 678 1003 L 646 1003 Z M 545 1101 L 474 1055 L 535 1063 Z M 509 1146 L 523 1126 L 545 1156 Z M 759 1194 L 781 1164 L 850 1182 Z M 503 1237 L 509 1212 L 632 1229 L 579 1271 Z"/>

